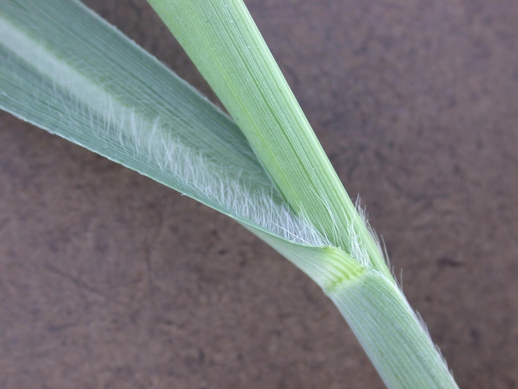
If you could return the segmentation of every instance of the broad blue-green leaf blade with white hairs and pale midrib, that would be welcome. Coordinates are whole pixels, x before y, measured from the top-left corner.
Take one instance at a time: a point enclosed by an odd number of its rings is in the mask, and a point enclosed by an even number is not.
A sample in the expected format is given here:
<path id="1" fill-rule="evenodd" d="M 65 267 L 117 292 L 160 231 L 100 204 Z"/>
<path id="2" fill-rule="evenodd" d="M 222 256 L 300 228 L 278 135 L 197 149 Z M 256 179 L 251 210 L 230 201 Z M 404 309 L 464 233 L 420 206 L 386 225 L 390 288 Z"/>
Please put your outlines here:
<path id="1" fill-rule="evenodd" d="M 5 0 L 0 36 L 8 112 L 233 217 L 322 286 L 359 269 L 276 195 L 232 119 L 81 3 Z M 315 265 L 329 253 L 350 265 Z"/>

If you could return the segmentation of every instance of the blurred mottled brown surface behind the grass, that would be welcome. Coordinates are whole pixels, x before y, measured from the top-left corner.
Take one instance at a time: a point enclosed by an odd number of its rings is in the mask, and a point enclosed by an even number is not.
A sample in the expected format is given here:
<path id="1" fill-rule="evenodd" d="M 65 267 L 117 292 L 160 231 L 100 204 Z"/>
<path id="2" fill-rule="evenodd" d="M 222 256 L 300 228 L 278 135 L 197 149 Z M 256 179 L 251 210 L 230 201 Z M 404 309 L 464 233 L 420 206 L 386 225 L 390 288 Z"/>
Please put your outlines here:
<path id="1" fill-rule="evenodd" d="M 144 0 L 85 3 L 213 98 Z M 458 384 L 518 387 L 518 3 L 246 3 Z M 232 220 L 0 118 L 0 387 L 383 387 Z"/>

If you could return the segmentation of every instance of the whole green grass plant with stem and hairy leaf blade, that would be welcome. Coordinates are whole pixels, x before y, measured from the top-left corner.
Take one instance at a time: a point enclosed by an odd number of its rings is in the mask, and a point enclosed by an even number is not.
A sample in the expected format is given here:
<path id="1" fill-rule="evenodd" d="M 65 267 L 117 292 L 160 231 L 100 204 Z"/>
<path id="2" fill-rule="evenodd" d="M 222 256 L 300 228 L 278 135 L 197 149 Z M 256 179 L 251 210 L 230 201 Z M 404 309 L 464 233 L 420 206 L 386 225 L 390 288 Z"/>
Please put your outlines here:
<path id="1" fill-rule="evenodd" d="M 242 0 L 149 0 L 227 114 L 76 0 L 0 3 L 0 107 L 256 234 L 333 300 L 389 388 L 456 388 Z"/>

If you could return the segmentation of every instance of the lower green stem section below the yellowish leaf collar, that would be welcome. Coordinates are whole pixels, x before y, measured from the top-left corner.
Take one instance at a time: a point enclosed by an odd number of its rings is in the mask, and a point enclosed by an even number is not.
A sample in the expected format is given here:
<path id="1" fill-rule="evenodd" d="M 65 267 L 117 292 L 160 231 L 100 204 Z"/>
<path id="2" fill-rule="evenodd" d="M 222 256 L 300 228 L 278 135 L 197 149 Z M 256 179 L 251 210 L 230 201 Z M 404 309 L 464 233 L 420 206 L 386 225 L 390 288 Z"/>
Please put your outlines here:
<path id="1" fill-rule="evenodd" d="M 405 296 L 379 272 L 360 274 L 329 291 L 328 296 L 387 387 L 458 389 Z"/>

